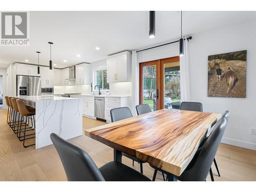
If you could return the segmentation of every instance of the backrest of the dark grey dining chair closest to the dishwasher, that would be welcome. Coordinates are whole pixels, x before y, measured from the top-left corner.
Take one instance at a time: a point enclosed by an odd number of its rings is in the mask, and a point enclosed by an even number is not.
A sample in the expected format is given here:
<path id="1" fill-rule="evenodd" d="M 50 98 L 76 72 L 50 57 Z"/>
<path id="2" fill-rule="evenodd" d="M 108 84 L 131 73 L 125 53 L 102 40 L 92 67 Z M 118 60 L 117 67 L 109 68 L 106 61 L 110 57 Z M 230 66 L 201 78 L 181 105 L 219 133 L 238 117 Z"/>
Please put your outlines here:
<path id="1" fill-rule="evenodd" d="M 110 110 L 111 121 L 119 121 L 122 119 L 133 117 L 131 110 L 127 106 L 123 106 L 122 108 L 114 108 Z"/>

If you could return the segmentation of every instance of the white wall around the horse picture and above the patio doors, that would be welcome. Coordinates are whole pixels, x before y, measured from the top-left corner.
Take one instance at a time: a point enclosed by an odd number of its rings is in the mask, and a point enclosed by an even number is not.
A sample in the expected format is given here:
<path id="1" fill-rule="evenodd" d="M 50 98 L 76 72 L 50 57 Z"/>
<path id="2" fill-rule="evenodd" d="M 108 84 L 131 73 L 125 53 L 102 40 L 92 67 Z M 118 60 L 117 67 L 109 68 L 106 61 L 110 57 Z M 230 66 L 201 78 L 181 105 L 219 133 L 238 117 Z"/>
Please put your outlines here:
<path id="1" fill-rule="evenodd" d="M 211 31 L 192 34 L 188 43 L 191 101 L 203 103 L 205 112 L 230 111 L 223 143 L 256 150 L 256 21 L 238 23 Z M 246 98 L 207 97 L 208 55 L 247 50 Z M 138 61 L 177 56 L 179 44 L 171 44 L 138 53 Z"/>

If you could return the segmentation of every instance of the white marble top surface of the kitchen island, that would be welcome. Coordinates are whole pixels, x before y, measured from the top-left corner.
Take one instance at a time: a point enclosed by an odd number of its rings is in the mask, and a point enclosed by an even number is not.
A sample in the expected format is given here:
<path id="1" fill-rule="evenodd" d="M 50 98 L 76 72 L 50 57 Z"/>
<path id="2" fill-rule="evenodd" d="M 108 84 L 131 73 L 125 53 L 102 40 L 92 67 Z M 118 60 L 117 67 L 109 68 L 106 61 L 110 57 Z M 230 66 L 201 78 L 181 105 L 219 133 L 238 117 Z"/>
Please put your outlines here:
<path id="1" fill-rule="evenodd" d="M 37 101 L 53 101 L 53 100 L 74 100 L 78 99 L 75 97 L 59 97 L 59 96 L 51 96 L 51 95 L 40 95 L 40 96 L 14 96 L 14 98 L 18 99 L 23 99 L 26 101 L 32 101 L 32 102 L 37 102 Z"/>

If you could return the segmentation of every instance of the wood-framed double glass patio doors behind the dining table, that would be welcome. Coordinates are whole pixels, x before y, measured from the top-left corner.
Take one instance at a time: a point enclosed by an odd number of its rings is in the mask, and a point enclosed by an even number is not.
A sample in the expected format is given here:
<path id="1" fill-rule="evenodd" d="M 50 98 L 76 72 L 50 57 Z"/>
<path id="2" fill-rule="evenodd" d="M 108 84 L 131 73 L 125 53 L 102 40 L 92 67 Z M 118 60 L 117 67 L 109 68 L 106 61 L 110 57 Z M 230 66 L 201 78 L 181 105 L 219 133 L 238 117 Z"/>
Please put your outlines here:
<path id="1" fill-rule="evenodd" d="M 179 57 L 140 63 L 140 104 L 152 111 L 172 108 L 180 99 Z"/>

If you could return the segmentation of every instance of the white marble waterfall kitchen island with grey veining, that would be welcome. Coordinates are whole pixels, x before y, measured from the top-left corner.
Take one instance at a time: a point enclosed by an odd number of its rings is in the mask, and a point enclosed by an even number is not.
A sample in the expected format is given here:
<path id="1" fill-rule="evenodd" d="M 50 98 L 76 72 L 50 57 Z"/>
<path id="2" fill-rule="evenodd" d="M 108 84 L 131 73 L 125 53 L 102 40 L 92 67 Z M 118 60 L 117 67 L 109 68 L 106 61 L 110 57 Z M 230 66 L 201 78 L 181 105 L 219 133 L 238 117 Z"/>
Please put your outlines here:
<path id="1" fill-rule="evenodd" d="M 35 106 L 35 148 L 52 144 L 51 133 L 63 139 L 82 135 L 82 101 L 56 96 L 19 96 Z"/>

